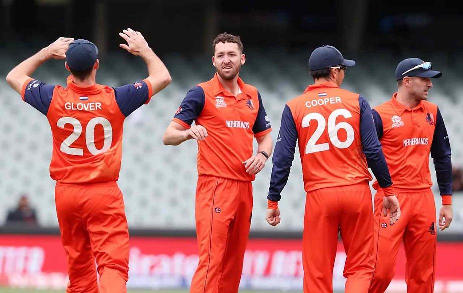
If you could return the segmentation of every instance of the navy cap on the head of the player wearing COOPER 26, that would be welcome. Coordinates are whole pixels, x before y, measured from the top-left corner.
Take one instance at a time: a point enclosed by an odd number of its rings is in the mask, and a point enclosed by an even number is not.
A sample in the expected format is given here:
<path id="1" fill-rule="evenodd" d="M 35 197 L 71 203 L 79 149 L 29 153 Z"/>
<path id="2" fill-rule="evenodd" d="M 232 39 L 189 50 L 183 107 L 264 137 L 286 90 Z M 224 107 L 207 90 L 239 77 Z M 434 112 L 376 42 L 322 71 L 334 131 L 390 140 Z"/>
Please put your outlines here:
<path id="1" fill-rule="evenodd" d="M 310 71 L 326 69 L 334 66 L 354 66 L 355 61 L 346 60 L 341 52 L 333 46 L 321 46 L 316 48 L 309 58 Z"/>

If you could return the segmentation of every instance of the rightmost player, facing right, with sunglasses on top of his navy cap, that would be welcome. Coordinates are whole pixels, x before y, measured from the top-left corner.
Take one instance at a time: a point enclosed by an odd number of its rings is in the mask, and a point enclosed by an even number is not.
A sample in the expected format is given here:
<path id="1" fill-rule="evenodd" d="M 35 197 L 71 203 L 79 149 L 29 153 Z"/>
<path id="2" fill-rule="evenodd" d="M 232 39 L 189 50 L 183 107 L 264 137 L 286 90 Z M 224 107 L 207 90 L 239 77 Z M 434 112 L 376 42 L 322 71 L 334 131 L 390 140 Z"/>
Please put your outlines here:
<path id="1" fill-rule="evenodd" d="M 429 154 L 434 158 L 442 195 L 439 227 L 452 221 L 452 167 L 447 130 L 437 105 L 427 101 L 431 78 L 442 73 L 418 58 L 401 61 L 395 71 L 398 91 L 373 109 L 376 131 L 389 165 L 402 219 L 394 226 L 375 211 L 375 272 L 370 292 L 384 293 L 395 273 L 395 260 L 403 241 L 409 293 L 431 293 L 435 281 L 436 208 L 431 191 Z M 376 209 L 384 196 L 373 184 Z"/>

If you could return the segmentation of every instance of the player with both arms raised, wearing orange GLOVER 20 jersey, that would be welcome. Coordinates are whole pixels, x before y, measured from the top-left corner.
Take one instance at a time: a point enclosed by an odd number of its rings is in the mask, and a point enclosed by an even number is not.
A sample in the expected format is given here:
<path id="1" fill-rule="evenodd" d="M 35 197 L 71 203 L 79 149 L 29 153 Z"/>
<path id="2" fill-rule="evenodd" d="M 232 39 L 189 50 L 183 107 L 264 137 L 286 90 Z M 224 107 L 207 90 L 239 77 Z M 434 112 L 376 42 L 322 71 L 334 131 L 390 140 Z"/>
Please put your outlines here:
<path id="1" fill-rule="evenodd" d="M 123 123 L 171 81 L 140 32 L 129 28 L 120 36 L 127 41 L 120 47 L 147 64 L 149 76 L 143 81 L 117 88 L 97 84 L 97 47 L 67 37 L 58 38 L 7 75 L 11 87 L 47 117 L 52 130 L 50 176 L 56 180 L 56 211 L 68 259 L 68 293 L 127 291 L 129 232 L 123 196 L 116 184 Z M 65 67 L 71 72 L 66 87 L 29 77 L 50 59 L 66 59 Z"/>

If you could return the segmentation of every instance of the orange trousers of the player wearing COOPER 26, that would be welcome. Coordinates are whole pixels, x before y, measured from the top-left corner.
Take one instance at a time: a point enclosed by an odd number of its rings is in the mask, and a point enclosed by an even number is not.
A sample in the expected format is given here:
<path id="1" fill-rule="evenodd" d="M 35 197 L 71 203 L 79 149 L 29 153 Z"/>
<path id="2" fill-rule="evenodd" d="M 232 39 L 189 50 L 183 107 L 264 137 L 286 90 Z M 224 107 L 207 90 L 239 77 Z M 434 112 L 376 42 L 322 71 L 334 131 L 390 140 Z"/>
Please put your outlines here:
<path id="1" fill-rule="evenodd" d="M 304 293 L 332 293 L 340 232 L 347 255 L 345 293 L 366 293 L 373 275 L 373 203 L 367 182 L 307 192 Z"/>

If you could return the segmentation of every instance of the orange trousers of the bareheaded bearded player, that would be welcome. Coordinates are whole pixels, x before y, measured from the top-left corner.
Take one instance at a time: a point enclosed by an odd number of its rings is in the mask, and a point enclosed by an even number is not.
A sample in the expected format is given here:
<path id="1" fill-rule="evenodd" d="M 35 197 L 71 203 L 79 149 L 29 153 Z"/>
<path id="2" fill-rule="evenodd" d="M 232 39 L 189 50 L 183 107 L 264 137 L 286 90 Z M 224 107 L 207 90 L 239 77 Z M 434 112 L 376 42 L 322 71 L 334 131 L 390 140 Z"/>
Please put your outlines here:
<path id="1" fill-rule="evenodd" d="M 199 263 L 192 293 L 237 293 L 252 215 L 252 183 L 199 176 L 196 186 Z"/>

